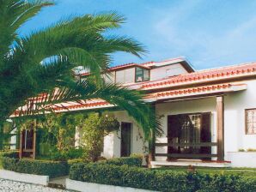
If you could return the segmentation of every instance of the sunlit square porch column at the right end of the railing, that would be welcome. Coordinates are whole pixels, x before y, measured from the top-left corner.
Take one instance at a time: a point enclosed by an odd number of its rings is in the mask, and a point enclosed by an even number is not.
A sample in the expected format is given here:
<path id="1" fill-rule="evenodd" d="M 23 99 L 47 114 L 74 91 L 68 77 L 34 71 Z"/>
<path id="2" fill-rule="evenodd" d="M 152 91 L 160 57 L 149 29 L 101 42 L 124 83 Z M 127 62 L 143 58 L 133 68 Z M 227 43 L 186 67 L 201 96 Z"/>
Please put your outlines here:
<path id="1" fill-rule="evenodd" d="M 216 97 L 217 160 L 224 160 L 224 96 Z"/>

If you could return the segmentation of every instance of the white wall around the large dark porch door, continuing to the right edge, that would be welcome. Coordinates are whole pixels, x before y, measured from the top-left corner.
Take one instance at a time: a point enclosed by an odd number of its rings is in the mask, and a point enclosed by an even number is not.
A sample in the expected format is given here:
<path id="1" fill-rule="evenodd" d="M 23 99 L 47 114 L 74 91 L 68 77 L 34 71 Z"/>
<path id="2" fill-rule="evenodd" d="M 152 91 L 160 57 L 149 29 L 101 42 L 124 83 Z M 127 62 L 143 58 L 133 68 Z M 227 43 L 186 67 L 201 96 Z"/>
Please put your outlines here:
<path id="1" fill-rule="evenodd" d="M 243 81 L 247 90 L 226 93 L 224 97 L 224 150 L 225 159 L 229 152 L 238 152 L 239 149 L 256 148 L 256 135 L 246 135 L 245 109 L 256 108 L 256 81 Z M 157 142 L 167 142 L 167 117 L 182 113 L 211 112 L 212 141 L 216 141 L 216 97 L 168 102 L 156 105 L 156 113 L 162 116 L 164 135 L 157 138 Z M 168 147 L 156 147 L 156 153 L 167 153 Z M 216 153 L 216 147 L 212 147 Z M 165 160 L 166 157 L 158 157 Z"/>

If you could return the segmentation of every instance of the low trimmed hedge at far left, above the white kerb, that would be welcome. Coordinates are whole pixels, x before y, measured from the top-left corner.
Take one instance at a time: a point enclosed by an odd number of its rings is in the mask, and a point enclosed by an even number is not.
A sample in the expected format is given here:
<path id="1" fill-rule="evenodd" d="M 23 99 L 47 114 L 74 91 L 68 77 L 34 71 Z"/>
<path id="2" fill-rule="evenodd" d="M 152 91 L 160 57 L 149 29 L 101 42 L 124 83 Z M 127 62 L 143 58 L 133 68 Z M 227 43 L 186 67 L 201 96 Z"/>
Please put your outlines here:
<path id="1" fill-rule="evenodd" d="M 3 157 L 3 169 L 49 177 L 60 177 L 69 174 L 69 165 L 65 161 L 15 159 Z"/>

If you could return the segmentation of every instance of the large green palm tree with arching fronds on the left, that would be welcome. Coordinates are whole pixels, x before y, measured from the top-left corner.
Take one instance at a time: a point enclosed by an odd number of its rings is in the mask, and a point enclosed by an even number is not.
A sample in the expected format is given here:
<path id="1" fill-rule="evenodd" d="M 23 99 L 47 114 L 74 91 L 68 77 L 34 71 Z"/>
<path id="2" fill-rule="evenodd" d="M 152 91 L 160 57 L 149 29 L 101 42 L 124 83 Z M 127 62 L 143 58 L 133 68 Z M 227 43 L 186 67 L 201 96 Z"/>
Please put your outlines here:
<path id="1" fill-rule="evenodd" d="M 47 94 L 46 99 L 36 104 L 41 111 L 50 104 L 100 98 L 128 111 L 149 138 L 157 123 L 142 100 L 143 93 L 103 83 L 100 78 L 112 60 L 112 53 L 125 51 L 141 57 L 145 52 L 134 39 L 103 34 L 120 27 L 124 17 L 115 13 L 82 15 L 26 36 L 18 35 L 17 30 L 24 22 L 53 4 L 0 0 L 0 123 L 18 107 L 32 106 L 29 98 L 40 93 Z M 78 66 L 89 69 L 94 81 L 75 81 L 72 69 Z"/>

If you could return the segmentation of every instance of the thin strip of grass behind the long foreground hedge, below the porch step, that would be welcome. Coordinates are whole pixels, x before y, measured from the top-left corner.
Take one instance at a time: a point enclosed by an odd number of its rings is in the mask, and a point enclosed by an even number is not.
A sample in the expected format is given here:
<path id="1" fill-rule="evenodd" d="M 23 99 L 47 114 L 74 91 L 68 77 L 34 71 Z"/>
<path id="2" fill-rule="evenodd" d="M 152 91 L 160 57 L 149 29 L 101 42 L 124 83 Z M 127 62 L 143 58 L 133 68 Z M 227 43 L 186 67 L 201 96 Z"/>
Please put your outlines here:
<path id="1" fill-rule="evenodd" d="M 168 166 L 156 168 L 157 171 L 187 171 L 187 167 Z M 204 174 L 222 174 L 222 175 L 237 175 L 243 177 L 256 177 L 256 168 L 210 168 L 210 167 L 195 167 L 195 171 Z"/>

